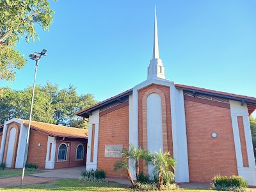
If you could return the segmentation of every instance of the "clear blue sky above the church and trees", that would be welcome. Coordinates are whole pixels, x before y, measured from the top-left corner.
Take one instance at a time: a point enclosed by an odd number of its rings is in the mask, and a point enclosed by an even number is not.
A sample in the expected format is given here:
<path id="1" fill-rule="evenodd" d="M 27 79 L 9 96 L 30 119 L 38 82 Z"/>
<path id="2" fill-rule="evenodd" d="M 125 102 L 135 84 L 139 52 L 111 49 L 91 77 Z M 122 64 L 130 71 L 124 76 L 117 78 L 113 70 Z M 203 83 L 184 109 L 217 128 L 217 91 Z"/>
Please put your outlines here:
<path id="1" fill-rule="evenodd" d="M 47 80 L 104 100 L 147 79 L 152 58 L 154 4 L 159 56 L 175 83 L 256 97 L 255 0 L 50 1 L 54 22 L 38 28 L 40 41 L 17 49 L 28 58 L 47 49 L 37 84 Z M 33 84 L 35 61 L 17 71 L 12 84 Z"/>

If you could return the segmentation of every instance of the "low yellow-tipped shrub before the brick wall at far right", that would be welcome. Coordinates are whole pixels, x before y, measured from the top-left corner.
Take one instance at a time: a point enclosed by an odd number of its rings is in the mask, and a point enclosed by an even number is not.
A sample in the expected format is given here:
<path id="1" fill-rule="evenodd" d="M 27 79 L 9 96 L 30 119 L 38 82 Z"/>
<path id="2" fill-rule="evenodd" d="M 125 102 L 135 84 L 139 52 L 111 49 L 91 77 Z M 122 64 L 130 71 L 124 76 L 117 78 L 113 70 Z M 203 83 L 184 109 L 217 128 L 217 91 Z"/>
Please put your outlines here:
<path id="1" fill-rule="evenodd" d="M 212 178 L 212 188 L 224 191 L 244 191 L 248 187 L 248 181 L 243 177 L 232 175 L 231 177 L 214 175 Z"/>

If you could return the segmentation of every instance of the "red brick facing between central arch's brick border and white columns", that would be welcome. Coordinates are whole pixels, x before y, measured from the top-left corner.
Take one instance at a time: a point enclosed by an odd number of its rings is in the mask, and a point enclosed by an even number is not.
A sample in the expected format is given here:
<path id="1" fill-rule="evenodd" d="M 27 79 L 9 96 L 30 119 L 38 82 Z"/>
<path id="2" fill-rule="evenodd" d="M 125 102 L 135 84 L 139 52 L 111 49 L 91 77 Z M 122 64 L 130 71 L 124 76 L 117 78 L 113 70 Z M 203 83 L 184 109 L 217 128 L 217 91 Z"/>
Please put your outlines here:
<path id="1" fill-rule="evenodd" d="M 165 97 L 165 109 L 162 109 L 162 113 L 163 113 L 163 110 L 166 110 L 166 129 L 167 129 L 167 145 L 168 145 L 168 149 L 167 150 L 170 151 L 171 156 L 173 156 L 170 88 L 167 87 L 167 86 L 162 86 L 162 85 L 158 85 L 158 84 L 152 84 L 150 86 L 147 86 L 146 88 L 143 88 L 142 90 L 139 90 L 139 92 L 138 92 L 139 145 L 140 145 L 140 147 L 143 147 L 143 114 L 147 114 L 147 111 L 145 111 L 145 110 L 147 110 L 147 108 L 145 108 L 145 107 L 143 108 L 143 96 L 149 90 L 159 90 L 157 92 L 163 92 L 163 94 L 164 94 L 164 97 Z M 161 98 L 162 98 L 162 105 L 163 105 L 163 97 L 161 97 Z M 145 101 L 144 101 L 144 103 L 145 103 Z M 143 168 L 143 166 L 144 166 L 143 163 L 140 163 L 140 170 L 145 170 Z"/>

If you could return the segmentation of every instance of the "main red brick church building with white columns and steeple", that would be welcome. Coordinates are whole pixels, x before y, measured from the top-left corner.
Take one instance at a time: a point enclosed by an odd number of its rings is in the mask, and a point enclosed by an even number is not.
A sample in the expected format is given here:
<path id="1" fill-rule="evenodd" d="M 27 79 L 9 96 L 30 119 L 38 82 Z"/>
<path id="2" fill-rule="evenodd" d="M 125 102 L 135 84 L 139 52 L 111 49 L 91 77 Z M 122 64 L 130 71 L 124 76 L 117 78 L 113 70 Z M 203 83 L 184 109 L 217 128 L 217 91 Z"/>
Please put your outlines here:
<path id="1" fill-rule="evenodd" d="M 169 151 L 177 163 L 175 182 L 211 182 L 220 174 L 240 175 L 256 186 L 249 123 L 256 98 L 177 84 L 164 71 L 155 13 L 147 79 L 76 113 L 89 118 L 86 169 L 120 177 L 113 172 L 114 164 L 132 143 L 151 152 Z M 151 173 L 152 168 L 140 164 L 140 171 Z"/>

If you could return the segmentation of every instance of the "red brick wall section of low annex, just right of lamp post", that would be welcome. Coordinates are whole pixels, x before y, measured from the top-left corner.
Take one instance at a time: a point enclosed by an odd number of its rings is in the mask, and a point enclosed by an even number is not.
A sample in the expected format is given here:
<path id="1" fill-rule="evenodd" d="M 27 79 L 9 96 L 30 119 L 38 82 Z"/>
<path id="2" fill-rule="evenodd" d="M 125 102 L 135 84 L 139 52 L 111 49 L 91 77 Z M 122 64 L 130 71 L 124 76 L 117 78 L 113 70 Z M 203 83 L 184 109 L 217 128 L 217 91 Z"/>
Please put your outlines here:
<path id="1" fill-rule="evenodd" d="M 28 163 L 38 164 L 40 170 L 45 169 L 48 135 L 31 129 L 28 147 Z M 41 146 L 38 146 L 41 143 Z"/>

